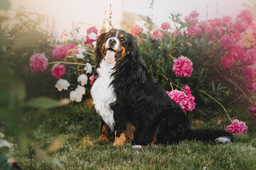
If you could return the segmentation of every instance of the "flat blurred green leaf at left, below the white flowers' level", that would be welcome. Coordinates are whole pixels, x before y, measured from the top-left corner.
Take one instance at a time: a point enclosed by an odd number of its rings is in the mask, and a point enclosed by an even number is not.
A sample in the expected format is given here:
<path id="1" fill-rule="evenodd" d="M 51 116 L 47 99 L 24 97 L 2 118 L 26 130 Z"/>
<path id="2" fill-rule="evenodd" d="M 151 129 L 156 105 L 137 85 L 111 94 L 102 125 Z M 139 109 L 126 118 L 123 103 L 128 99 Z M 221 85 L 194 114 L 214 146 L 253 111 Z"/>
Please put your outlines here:
<path id="1" fill-rule="evenodd" d="M 59 101 L 48 98 L 48 97 L 38 97 L 38 98 L 32 98 L 30 101 L 28 101 L 25 106 L 32 107 L 32 108 L 43 108 L 43 109 L 50 109 L 55 108 L 57 106 L 60 106 Z"/>

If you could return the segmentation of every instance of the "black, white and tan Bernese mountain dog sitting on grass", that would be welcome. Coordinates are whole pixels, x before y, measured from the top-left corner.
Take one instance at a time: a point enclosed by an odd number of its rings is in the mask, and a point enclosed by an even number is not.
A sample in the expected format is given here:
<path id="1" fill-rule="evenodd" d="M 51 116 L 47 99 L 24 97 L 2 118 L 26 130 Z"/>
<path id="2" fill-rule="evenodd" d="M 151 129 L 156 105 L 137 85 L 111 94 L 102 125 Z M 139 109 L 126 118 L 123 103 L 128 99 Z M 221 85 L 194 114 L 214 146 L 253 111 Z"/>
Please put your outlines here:
<path id="1" fill-rule="evenodd" d="M 182 108 L 154 81 L 139 55 L 137 42 L 124 30 L 97 38 L 95 80 L 91 95 L 102 118 L 98 140 L 114 146 L 171 145 L 181 140 L 233 141 L 223 130 L 191 130 Z"/>

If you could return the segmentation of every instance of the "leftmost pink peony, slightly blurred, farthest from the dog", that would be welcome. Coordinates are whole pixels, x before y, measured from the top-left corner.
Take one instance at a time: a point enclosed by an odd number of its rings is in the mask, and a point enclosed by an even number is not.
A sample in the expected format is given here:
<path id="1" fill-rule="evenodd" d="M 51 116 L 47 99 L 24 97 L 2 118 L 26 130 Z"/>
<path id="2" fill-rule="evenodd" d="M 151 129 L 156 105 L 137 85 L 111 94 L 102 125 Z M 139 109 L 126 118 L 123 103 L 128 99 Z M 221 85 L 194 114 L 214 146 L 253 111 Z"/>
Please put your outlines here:
<path id="1" fill-rule="evenodd" d="M 45 55 L 35 54 L 30 57 L 30 64 L 32 72 L 44 72 L 48 67 L 48 60 Z"/>

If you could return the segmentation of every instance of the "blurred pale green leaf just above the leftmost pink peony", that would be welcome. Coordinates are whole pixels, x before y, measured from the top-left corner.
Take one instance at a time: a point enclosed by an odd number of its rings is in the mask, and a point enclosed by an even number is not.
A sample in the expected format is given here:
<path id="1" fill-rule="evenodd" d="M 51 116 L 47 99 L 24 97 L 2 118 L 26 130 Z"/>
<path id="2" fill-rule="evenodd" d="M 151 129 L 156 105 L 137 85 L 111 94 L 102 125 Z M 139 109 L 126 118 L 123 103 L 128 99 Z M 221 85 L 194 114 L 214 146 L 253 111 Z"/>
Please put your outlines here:
<path id="1" fill-rule="evenodd" d="M 47 35 L 35 31 L 28 31 L 23 33 L 20 37 L 14 40 L 13 50 L 19 50 L 23 47 L 33 45 L 39 40 L 46 40 Z"/>

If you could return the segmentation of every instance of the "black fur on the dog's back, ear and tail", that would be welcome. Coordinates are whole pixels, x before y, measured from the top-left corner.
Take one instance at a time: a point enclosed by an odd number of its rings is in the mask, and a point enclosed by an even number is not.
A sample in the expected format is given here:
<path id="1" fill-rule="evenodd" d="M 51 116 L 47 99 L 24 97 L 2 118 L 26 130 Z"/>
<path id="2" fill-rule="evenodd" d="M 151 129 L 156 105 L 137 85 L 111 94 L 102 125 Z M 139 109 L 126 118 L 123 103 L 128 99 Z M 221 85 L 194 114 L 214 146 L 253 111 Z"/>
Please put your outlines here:
<path id="1" fill-rule="evenodd" d="M 102 42 L 98 40 L 97 48 L 100 45 Z M 181 107 L 169 98 L 147 72 L 132 35 L 127 33 L 127 42 L 122 45 L 127 55 L 117 62 L 112 74 L 117 101 L 111 104 L 111 108 L 114 111 L 117 137 L 124 132 L 127 123 L 132 123 L 135 128 L 132 145 L 149 145 L 155 135 L 156 143 L 164 145 L 181 140 L 215 142 L 215 138 L 224 136 L 233 140 L 229 132 L 221 130 L 191 130 L 187 115 Z M 102 55 L 97 48 L 99 66 Z"/>

